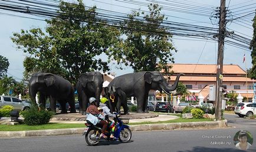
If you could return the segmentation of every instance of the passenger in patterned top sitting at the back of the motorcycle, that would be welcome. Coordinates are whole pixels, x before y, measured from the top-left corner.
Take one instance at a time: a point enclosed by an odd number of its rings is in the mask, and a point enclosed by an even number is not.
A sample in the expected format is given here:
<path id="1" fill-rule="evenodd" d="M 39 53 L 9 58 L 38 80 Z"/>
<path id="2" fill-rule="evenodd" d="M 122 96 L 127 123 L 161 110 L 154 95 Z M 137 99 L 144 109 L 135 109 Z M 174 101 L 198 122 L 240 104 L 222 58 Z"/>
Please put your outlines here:
<path id="1" fill-rule="evenodd" d="M 100 112 L 97 109 L 95 97 L 90 97 L 89 102 L 90 102 L 90 106 L 87 107 L 86 113 L 91 113 L 94 116 L 98 117 L 99 119 Z M 106 129 L 107 129 L 107 121 L 99 119 L 99 123 L 97 124 L 100 124 L 101 126 L 103 126 L 101 129 L 100 138 L 107 139 L 107 136 L 104 134 L 106 133 Z"/>

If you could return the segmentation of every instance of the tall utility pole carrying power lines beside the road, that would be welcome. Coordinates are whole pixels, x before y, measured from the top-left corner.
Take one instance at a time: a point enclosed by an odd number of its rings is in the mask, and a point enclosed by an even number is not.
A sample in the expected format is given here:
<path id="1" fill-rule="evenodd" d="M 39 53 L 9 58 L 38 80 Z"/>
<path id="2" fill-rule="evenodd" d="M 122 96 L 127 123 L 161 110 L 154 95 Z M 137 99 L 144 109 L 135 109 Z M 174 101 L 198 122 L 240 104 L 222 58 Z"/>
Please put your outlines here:
<path id="1" fill-rule="evenodd" d="M 226 18 L 226 1 L 221 0 L 219 8 L 219 35 L 218 35 L 218 59 L 216 69 L 216 102 L 215 102 L 215 119 L 221 120 L 221 103 L 222 103 L 222 79 L 223 79 L 223 56 L 224 56 L 224 39 L 225 39 L 225 18 Z"/>

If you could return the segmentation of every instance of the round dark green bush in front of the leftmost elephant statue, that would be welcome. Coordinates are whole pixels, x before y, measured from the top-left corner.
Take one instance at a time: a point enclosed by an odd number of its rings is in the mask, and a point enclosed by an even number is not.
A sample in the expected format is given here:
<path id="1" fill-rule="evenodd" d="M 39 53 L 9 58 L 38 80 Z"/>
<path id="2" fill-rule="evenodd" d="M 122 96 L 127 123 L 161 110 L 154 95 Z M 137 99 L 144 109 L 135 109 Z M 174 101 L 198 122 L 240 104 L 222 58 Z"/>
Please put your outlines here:
<path id="1" fill-rule="evenodd" d="M 28 126 L 47 124 L 51 117 L 54 115 L 53 112 L 47 110 L 38 110 L 38 106 L 31 106 L 31 109 L 21 112 L 24 117 L 24 123 Z"/>

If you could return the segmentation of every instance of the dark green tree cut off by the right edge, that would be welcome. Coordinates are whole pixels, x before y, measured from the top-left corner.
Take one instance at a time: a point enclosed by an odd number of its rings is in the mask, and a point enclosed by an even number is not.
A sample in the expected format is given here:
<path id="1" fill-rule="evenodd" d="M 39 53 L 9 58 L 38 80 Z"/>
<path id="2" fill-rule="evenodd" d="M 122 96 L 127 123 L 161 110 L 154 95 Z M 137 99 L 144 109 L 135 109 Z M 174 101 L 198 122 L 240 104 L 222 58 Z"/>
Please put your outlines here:
<path id="1" fill-rule="evenodd" d="M 251 45 L 250 45 L 250 49 L 252 50 L 252 52 L 251 52 L 252 69 L 250 69 L 250 77 L 251 77 L 251 79 L 256 79 L 256 13 L 255 13 L 254 19 L 252 21 L 254 21 L 254 23 L 252 24 L 254 31 L 253 31 L 253 37 L 252 37 Z"/>

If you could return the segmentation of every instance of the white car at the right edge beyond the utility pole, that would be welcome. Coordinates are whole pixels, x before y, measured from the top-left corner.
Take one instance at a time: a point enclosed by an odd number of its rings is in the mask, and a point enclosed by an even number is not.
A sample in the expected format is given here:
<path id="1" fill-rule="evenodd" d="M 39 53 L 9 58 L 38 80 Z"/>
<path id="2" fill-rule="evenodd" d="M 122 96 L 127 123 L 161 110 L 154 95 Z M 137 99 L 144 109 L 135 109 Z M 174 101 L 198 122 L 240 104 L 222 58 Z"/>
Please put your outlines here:
<path id="1" fill-rule="evenodd" d="M 253 116 L 254 114 L 256 114 L 256 103 L 251 103 L 251 102 L 238 103 L 237 106 L 235 106 L 235 114 L 237 114 L 239 117 Z"/>

